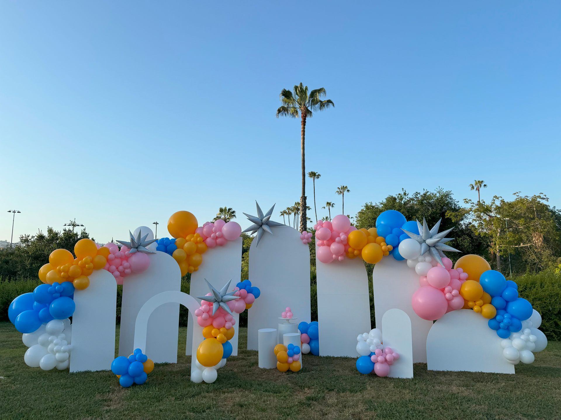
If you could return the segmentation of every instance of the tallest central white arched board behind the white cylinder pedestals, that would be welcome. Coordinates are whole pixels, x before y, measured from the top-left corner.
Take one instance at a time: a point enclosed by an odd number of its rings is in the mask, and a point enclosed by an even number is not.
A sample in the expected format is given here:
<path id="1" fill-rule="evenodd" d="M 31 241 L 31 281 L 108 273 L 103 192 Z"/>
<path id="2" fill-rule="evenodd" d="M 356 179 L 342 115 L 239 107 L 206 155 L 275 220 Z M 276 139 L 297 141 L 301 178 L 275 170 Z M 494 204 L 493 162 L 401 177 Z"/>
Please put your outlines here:
<path id="1" fill-rule="evenodd" d="M 247 349 L 257 350 L 257 332 L 275 328 L 290 306 L 298 322 L 310 322 L 310 250 L 300 232 L 289 226 L 272 227 L 249 250 L 249 280 L 261 296 L 247 314 Z"/>

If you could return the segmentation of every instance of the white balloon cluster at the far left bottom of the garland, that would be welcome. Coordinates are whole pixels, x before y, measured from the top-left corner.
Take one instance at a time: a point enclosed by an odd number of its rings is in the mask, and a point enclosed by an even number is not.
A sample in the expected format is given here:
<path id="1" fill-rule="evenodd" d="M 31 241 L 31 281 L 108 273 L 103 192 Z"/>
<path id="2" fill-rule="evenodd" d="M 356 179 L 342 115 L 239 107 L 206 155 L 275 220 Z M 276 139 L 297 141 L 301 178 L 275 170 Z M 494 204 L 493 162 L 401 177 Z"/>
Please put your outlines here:
<path id="1" fill-rule="evenodd" d="M 29 347 L 24 361 L 29 367 L 43 370 L 65 370 L 70 365 L 72 350 L 72 325 L 70 319 L 53 319 L 30 334 L 23 334 L 22 341 Z"/>

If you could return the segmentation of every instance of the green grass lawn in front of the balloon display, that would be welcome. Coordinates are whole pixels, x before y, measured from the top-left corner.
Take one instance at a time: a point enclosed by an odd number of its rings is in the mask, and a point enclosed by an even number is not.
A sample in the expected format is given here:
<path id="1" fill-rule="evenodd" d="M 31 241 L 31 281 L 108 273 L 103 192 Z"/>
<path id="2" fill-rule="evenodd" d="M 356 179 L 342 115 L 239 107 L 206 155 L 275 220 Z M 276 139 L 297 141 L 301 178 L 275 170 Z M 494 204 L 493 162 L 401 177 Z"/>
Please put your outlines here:
<path id="1" fill-rule="evenodd" d="M 434 418 L 549 419 L 561 415 L 561 343 L 550 342 L 516 375 L 429 372 L 412 380 L 360 375 L 354 358 L 304 356 L 297 373 L 262 370 L 240 351 L 214 384 L 189 380 L 186 328 L 177 364 L 157 365 L 144 385 L 121 388 L 111 372 L 70 374 L 25 366 L 26 347 L 0 323 L 0 418 Z M 240 348 L 245 348 L 241 329 Z M 474 338 L 476 339 L 476 338 Z"/>

